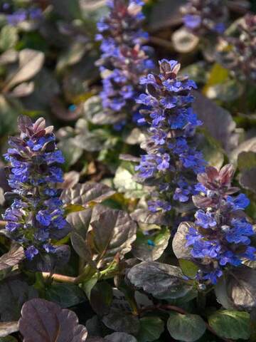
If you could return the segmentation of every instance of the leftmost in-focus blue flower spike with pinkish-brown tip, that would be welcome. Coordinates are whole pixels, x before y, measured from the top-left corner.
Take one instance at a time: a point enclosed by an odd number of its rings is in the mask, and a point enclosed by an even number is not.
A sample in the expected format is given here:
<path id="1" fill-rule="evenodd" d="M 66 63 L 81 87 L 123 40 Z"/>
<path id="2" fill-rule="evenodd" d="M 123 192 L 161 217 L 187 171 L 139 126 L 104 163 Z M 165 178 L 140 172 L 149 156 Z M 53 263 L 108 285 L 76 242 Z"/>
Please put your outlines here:
<path id="1" fill-rule="evenodd" d="M 5 159 L 10 162 L 9 185 L 16 194 L 3 215 L 6 234 L 23 245 L 28 259 L 41 252 L 55 252 L 51 239 L 62 239 L 70 231 L 63 217 L 63 202 L 56 183 L 63 182 L 59 165 L 64 162 L 57 150 L 53 126 L 39 118 L 32 123 L 18 118 L 19 138 L 9 138 Z"/>

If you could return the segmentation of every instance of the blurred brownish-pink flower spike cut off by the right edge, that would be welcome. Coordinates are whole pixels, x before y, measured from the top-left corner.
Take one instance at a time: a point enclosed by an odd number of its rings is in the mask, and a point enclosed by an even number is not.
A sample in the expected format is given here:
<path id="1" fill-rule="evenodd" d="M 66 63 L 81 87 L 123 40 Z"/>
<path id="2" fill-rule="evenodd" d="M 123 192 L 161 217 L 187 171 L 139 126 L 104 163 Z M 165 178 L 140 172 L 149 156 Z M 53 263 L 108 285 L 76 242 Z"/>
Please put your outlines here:
<path id="1" fill-rule="evenodd" d="M 233 35 L 220 44 L 220 63 L 243 81 L 256 80 L 256 15 L 247 14 L 238 21 Z"/>

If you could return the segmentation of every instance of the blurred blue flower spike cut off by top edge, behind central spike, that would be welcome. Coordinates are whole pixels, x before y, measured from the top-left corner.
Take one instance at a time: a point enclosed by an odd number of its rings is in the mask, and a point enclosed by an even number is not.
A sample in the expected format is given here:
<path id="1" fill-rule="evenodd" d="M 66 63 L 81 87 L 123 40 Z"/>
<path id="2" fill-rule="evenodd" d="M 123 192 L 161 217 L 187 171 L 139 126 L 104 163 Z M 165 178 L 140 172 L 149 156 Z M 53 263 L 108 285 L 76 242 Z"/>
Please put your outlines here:
<path id="1" fill-rule="evenodd" d="M 148 34 L 143 31 L 141 0 L 107 1 L 110 14 L 98 24 L 97 41 L 102 41 L 102 56 L 97 65 L 102 74 L 102 105 L 117 130 L 137 120 L 134 97 L 142 89 L 139 78 L 154 68 L 149 46 L 143 46 Z"/>

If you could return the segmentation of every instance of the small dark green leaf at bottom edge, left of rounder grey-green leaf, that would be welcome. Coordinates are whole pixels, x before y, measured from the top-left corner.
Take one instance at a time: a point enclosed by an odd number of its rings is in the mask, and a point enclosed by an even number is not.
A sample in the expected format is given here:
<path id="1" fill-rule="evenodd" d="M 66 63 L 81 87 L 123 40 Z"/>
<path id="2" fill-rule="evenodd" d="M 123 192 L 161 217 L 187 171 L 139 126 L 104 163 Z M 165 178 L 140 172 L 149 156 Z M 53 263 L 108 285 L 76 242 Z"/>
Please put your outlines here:
<path id="1" fill-rule="evenodd" d="M 139 342 L 156 341 L 164 332 L 164 322 L 159 317 L 143 317 L 139 323 L 139 334 L 137 336 Z"/>

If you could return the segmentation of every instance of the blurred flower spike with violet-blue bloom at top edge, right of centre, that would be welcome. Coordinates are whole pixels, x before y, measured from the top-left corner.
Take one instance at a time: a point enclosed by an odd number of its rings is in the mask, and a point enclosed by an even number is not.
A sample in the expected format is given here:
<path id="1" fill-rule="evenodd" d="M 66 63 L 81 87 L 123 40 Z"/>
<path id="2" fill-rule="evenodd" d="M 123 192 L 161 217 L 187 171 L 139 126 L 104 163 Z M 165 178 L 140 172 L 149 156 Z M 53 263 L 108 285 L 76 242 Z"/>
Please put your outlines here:
<path id="1" fill-rule="evenodd" d="M 189 0 L 181 7 L 183 23 L 198 36 L 223 33 L 228 19 L 225 0 Z"/>

